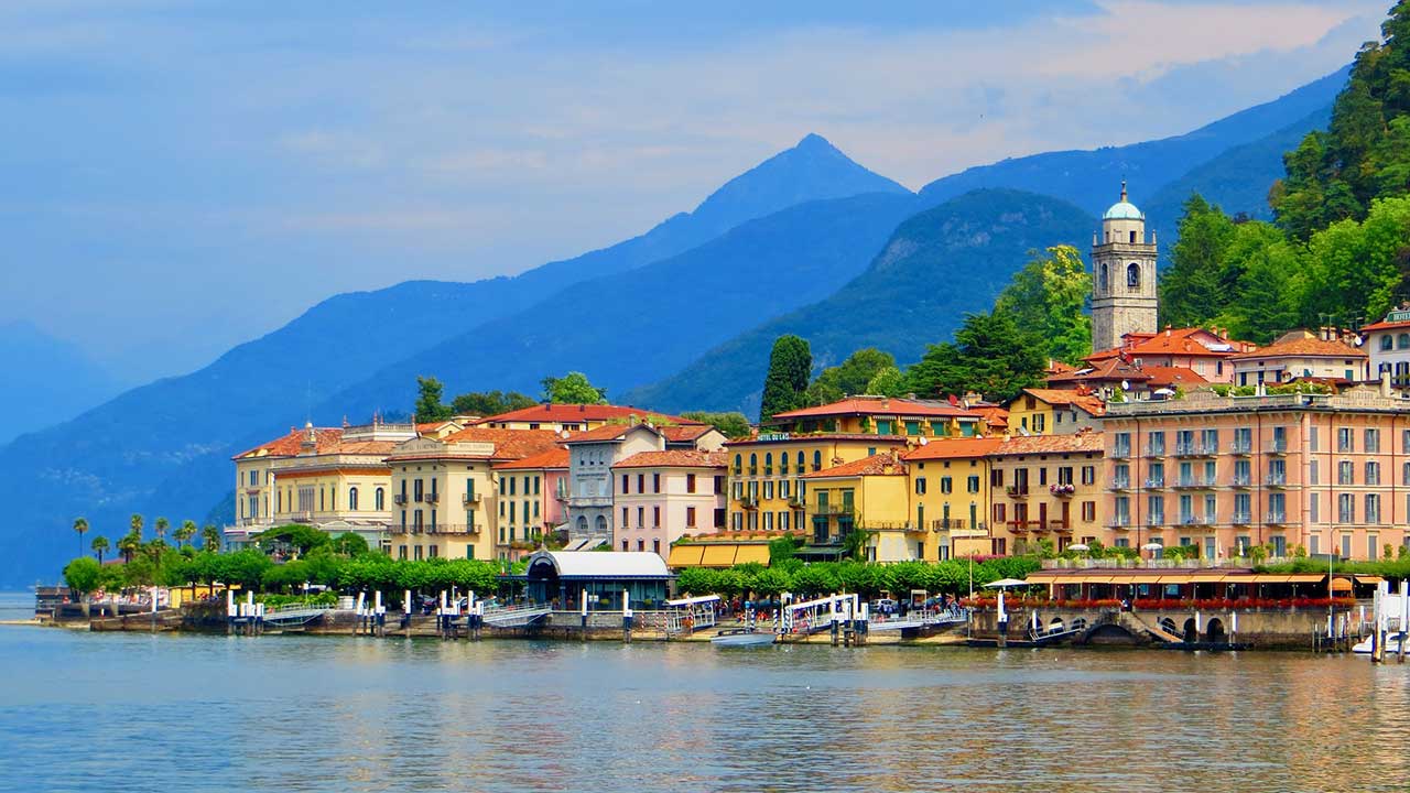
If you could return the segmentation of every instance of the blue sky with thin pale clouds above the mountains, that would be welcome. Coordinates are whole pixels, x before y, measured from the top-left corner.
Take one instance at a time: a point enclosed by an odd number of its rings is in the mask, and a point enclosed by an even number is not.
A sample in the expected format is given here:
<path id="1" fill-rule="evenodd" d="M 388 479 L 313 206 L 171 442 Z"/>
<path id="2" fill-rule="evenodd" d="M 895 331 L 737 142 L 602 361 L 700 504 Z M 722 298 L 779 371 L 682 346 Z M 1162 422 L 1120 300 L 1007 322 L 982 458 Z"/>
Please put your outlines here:
<path id="1" fill-rule="evenodd" d="M 911 188 L 1335 71 L 1347 3 L 0 4 L 0 325 L 134 382 L 612 244 L 818 133 Z"/>

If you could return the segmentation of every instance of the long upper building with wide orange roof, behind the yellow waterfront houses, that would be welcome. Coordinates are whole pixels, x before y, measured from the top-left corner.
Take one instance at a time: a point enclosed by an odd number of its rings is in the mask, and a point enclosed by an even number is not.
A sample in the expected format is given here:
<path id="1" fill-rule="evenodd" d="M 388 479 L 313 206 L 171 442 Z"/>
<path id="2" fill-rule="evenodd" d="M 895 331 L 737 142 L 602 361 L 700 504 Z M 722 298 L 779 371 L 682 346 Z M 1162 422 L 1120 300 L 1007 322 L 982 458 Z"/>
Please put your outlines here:
<path id="1" fill-rule="evenodd" d="M 960 404 L 900 396 L 849 396 L 830 405 L 774 415 L 770 430 L 921 437 L 973 437 L 984 432 L 984 415 Z"/>

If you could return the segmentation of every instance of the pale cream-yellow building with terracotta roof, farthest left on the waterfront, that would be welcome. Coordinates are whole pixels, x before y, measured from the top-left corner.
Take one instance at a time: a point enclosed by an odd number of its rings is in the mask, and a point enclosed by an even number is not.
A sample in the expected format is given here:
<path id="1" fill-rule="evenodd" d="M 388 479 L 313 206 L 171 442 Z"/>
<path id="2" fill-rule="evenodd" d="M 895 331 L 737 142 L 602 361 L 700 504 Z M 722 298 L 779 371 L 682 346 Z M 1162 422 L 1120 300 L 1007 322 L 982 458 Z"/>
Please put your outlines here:
<path id="1" fill-rule="evenodd" d="M 391 519 L 385 457 L 412 437 L 412 425 L 306 425 L 237 454 L 235 523 L 226 526 L 226 542 L 238 547 L 271 526 L 306 523 L 384 546 Z"/>

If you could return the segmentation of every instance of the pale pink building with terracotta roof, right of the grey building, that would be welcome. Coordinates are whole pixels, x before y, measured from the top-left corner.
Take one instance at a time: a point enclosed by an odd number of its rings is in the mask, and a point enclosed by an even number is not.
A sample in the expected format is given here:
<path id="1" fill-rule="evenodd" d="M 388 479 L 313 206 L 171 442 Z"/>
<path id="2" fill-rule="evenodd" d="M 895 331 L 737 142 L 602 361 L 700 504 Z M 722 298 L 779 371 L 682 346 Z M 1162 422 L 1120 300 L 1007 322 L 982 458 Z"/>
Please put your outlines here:
<path id="1" fill-rule="evenodd" d="M 725 452 L 639 452 L 612 466 L 616 550 L 666 559 L 684 535 L 725 526 Z"/>

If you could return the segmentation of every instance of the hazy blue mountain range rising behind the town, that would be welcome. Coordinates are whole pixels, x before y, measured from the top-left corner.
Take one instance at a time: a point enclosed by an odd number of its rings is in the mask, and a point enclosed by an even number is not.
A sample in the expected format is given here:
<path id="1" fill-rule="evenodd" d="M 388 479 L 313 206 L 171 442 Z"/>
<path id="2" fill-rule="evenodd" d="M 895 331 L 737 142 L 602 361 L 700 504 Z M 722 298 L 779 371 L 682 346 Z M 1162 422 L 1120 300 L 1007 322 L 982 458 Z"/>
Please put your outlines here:
<path id="1" fill-rule="evenodd" d="M 725 409 L 753 404 L 777 333 L 809 337 L 819 364 L 864 344 L 914 360 L 987 308 L 1026 250 L 1086 250 L 1122 176 L 1156 229 L 1173 229 L 1191 188 L 1266 214 L 1286 141 L 1325 123 L 1344 82 L 1345 71 L 1186 135 L 970 168 L 918 195 L 808 135 L 616 246 L 515 278 L 337 295 L 196 373 L 0 447 L 13 505 L 0 583 L 52 579 L 80 514 L 110 539 L 131 512 L 200 519 L 231 487 L 230 454 L 306 419 L 406 411 L 416 374 L 448 394 L 536 392 L 575 368 L 612 396 Z M 80 409 L 45 406 L 48 419 Z"/>

